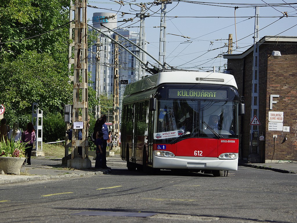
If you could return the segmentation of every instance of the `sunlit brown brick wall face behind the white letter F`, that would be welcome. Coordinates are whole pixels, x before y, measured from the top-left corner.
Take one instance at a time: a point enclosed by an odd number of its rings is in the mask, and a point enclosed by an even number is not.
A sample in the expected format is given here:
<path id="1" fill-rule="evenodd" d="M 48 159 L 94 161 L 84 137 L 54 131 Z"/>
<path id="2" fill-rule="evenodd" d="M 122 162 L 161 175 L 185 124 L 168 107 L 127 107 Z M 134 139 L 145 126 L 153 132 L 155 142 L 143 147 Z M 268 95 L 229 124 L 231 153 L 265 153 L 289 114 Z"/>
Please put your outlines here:
<path id="1" fill-rule="evenodd" d="M 271 52 L 280 51 L 282 56 L 274 59 Z M 284 112 L 284 126 L 290 132 L 268 131 L 266 121 L 266 160 L 297 160 L 297 44 L 281 42 L 266 45 L 267 54 L 267 113 Z M 269 95 L 279 95 L 273 109 L 269 110 Z M 277 135 L 274 142 L 273 134 Z M 287 138 L 287 140 L 285 140 Z"/>

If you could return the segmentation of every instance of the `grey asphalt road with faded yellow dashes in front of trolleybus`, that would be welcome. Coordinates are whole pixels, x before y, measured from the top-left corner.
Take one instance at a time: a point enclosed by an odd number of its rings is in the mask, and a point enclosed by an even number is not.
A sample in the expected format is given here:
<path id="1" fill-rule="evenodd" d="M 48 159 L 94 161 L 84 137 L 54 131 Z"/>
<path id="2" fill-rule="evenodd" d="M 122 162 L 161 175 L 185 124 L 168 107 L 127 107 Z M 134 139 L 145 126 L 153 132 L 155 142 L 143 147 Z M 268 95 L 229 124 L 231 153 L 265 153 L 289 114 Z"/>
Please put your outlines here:
<path id="1" fill-rule="evenodd" d="M 1 186 L 0 221 L 297 222 L 296 174 L 239 167 L 219 178 L 148 175 L 119 159 L 108 165 L 109 175 Z"/>

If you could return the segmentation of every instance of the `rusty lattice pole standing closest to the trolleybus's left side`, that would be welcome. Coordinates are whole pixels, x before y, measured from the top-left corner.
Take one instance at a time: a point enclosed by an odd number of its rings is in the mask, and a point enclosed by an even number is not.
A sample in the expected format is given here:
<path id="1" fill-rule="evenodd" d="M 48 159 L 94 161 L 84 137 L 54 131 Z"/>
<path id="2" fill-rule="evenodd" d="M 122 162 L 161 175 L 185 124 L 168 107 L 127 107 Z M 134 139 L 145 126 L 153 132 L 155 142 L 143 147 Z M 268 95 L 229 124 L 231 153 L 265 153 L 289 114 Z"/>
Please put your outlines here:
<path id="1" fill-rule="evenodd" d="M 119 41 L 119 36 L 115 36 Z M 112 141 L 116 142 L 113 147 L 119 147 L 119 45 L 115 44 L 114 49 L 114 75 L 113 75 L 113 120 L 112 120 Z"/>

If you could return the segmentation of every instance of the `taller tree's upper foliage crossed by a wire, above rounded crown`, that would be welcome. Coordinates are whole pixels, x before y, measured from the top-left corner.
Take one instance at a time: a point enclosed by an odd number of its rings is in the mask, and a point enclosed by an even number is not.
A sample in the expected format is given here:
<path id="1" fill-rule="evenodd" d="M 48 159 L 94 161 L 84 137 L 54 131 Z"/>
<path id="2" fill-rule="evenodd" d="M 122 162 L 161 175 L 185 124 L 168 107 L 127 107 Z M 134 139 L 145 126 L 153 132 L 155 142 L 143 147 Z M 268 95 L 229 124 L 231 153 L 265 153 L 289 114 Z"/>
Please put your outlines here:
<path id="1" fill-rule="evenodd" d="M 30 49 L 66 62 L 69 26 L 48 31 L 69 21 L 68 6 L 66 0 L 2 0 L 0 58 L 12 60 Z M 42 35 L 34 37 L 37 34 Z M 11 42 L 15 40 L 21 41 Z"/>

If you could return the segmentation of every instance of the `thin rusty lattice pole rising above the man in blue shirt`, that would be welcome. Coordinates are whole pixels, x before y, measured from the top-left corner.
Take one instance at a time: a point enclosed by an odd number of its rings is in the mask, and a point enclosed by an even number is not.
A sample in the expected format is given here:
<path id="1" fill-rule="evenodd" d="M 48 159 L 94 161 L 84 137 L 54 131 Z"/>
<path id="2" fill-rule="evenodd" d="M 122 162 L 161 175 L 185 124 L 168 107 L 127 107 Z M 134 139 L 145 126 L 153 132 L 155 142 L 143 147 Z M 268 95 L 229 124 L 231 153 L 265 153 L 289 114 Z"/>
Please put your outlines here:
<path id="1" fill-rule="evenodd" d="M 96 42 L 96 71 L 95 71 L 95 91 L 96 91 L 96 99 L 99 102 L 99 105 L 95 106 L 95 119 L 97 120 L 100 117 L 101 114 L 101 106 L 100 106 L 100 47 L 102 44 L 100 43 L 99 38 L 97 38 Z"/>

